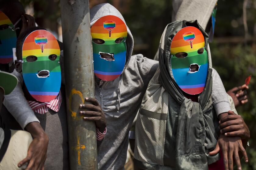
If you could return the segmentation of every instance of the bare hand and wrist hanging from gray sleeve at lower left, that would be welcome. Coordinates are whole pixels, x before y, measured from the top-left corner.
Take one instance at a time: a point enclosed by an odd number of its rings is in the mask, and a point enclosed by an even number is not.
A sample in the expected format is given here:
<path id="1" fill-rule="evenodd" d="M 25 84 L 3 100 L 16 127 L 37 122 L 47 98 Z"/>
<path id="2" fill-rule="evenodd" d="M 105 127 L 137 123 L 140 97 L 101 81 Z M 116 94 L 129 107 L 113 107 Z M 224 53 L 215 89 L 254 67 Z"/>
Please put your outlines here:
<path id="1" fill-rule="evenodd" d="M 31 122 L 27 124 L 25 129 L 30 132 L 33 137 L 33 141 L 29 145 L 27 157 L 18 163 L 18 167 L 29 162 L 25 170 L 43 170 L 44 162 L 47 158 L 49 138 L 39 122 Z"/>

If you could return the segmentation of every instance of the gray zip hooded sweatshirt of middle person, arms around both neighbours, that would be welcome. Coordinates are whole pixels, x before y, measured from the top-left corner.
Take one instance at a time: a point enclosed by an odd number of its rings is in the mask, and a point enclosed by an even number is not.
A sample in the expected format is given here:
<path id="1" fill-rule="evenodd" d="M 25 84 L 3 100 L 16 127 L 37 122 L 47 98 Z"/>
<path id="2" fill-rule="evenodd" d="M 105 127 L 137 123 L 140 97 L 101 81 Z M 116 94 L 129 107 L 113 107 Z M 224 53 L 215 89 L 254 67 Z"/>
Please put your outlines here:
<path id="1" fill-rule="evenodd" d="M 112 5 L 105 3 L 94 6 L 90 10 L 91 26 L 101 17 L 115 15 L 124 21 L 121 13 Z M 107 133 L 98 148 L 98 169 L 123 169 L 128 148 L 128 134 L 136 116 L 148 83 L 158 68 L 158 61 L 150 60 L 143 55 L 132 56 L 133 36 L 127 27 L 126 64 L 123 73 L 112 81 L 105 82 L 101 87 L 95 84 L 95 97 L 105 113 Z M 22 81 L 21 74 L 14 74 Z M 216 104 L 218 114 L 230 110 L 226 91 L 218 73 L 213 72 L 212 99 Z M 214 78 L 215 77 L 215 78 Z M 97 81 L 95 81 L 97 82 Z M 19 82 L 16 89 L 5 97 L 4 105 L 19 122 L 21 127 L 33 121 L 38 121 L 33 110 L 27 104 Z M 225 94 L 225 95 L 223 95 Z M 17 112 L 17 110 L 19 110 Z"/>

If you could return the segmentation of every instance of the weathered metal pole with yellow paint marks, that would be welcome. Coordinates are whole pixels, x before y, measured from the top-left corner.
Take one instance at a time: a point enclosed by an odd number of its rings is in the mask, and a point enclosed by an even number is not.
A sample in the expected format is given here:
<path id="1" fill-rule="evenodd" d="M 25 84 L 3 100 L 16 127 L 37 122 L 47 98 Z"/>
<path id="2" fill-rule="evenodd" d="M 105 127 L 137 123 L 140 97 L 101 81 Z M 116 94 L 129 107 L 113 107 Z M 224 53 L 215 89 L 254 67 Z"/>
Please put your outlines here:
<path id="1" fill-rule="evenodd" d="M 95 123 L 83 120 L 79 104 L 94 97 L 89 0 L 61 0 L 62 36 L 71 170 L 98 169 Z"/>

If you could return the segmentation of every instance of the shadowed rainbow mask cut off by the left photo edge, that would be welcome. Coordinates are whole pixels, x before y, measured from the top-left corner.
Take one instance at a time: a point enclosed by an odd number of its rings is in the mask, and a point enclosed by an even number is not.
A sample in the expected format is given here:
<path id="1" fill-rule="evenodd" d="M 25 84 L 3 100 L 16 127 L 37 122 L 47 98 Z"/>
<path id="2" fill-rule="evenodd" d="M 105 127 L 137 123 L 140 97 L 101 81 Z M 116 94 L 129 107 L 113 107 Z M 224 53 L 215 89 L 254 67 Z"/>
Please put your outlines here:
<path id="1" fill-rule="evenodd" d="M 11 20 L 0 11 L 0 63 L 6 64 L 13 60 L 12 49 L 16 47 L 16 31 Z"/>

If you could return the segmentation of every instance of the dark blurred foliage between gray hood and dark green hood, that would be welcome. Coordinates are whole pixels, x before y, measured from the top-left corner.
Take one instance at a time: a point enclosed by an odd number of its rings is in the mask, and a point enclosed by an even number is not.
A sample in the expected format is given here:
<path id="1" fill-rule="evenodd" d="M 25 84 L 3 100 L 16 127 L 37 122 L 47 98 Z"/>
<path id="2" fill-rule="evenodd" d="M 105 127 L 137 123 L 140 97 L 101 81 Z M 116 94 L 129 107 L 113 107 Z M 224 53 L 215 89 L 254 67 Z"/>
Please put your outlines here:
<path id="1" fill-rule="evenodd" d="M 134 54 L 142 53 L 153 59 L 157 51 L 162 32 L 172 20 L 171 0 L 133 0 L 130 2 L 130 12 L 123 14 L 126 24 L 134 38 Z M 136 48 L 136 45 L 146 44 L 146 49 Z"/>

